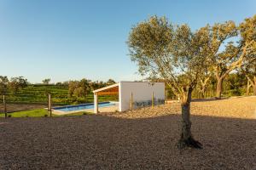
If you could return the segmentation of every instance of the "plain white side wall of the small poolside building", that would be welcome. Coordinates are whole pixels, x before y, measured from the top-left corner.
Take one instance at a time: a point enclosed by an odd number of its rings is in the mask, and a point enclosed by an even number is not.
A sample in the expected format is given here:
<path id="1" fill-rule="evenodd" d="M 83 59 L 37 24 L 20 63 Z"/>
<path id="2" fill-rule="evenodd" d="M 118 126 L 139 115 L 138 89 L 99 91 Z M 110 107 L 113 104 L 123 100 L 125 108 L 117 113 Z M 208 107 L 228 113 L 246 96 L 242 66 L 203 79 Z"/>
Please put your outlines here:
<path id="1" fill-rule="evenodd" d="M 165 99 L 164 82 L 119 82 L 119 111 L 130 109 L 131 92 L 133 102 L 142 102 L 154 99 Z"/>

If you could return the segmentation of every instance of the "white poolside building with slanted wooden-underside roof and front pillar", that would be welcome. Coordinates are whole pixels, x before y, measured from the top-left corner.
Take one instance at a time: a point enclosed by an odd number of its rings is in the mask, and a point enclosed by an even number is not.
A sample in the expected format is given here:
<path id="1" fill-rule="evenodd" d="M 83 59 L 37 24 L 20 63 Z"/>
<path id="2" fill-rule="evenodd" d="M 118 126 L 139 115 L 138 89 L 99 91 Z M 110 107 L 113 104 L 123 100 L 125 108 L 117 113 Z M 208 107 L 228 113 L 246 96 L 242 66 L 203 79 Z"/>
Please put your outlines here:
<path id="1" fill-rule="evenodd" d="M 100 88 L 94 93 L 94 111 L 98 112 L 99 95 L 119 95 L 119 111 L 136 109 L 140 106 L 164 104 L 164 82 L 118 82 L 105 88 Z"/>

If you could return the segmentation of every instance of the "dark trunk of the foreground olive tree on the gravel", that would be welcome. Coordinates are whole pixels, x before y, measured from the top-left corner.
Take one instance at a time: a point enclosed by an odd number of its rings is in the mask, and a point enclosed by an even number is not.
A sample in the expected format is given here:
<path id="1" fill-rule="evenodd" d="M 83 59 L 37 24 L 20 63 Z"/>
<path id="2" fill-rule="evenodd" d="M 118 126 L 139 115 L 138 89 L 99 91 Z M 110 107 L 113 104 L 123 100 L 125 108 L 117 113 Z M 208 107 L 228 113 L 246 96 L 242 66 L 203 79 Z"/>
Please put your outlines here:
<path id="1" fill-rule="evenodd" d="M 192 89 L 189 89 L 188 96 L 183 96 L 182 107 L 182 132 L 181 138 L 178 141 L 178 148 L 182 149 L 186 146 L 201 149 L 201 143 L 193 139 L 191 133 L 190 122 L 190 102 L 191 102 Z"/>

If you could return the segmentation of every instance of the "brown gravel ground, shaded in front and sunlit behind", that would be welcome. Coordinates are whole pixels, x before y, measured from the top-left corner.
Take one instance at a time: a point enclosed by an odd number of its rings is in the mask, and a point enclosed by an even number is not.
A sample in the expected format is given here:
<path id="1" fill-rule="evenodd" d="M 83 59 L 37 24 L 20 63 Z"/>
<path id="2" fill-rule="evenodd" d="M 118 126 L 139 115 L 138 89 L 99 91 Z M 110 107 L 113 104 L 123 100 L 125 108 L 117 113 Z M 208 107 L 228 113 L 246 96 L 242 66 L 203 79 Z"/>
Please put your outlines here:
<path id="1" fill-rule="evenodd" d="M 0 169 L 256 169 L 256 98 L 193 102 L 203 150 L 177 150 L 179 111 L 0 119 Z"/>

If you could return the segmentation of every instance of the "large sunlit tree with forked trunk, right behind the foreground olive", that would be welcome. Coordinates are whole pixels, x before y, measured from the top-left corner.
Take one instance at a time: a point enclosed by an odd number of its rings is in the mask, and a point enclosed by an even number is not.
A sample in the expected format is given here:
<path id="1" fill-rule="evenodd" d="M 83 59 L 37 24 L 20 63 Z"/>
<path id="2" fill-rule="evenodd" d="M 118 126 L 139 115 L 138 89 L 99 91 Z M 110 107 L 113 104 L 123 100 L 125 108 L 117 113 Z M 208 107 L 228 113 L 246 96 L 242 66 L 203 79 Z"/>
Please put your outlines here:
<path id="1" fill-rule="evenodd" d="M 255 43 L 255 16 L 236 26 L 233 21 L 206 26 L 208 32 L 207 55 L 217 79 L 216 97 L 222 94 L 224 78 L 241 66 Z M 238 38 L 238 42 L 233 42 Z M 224 49 L 222 49 L 224 47 Z"/>

